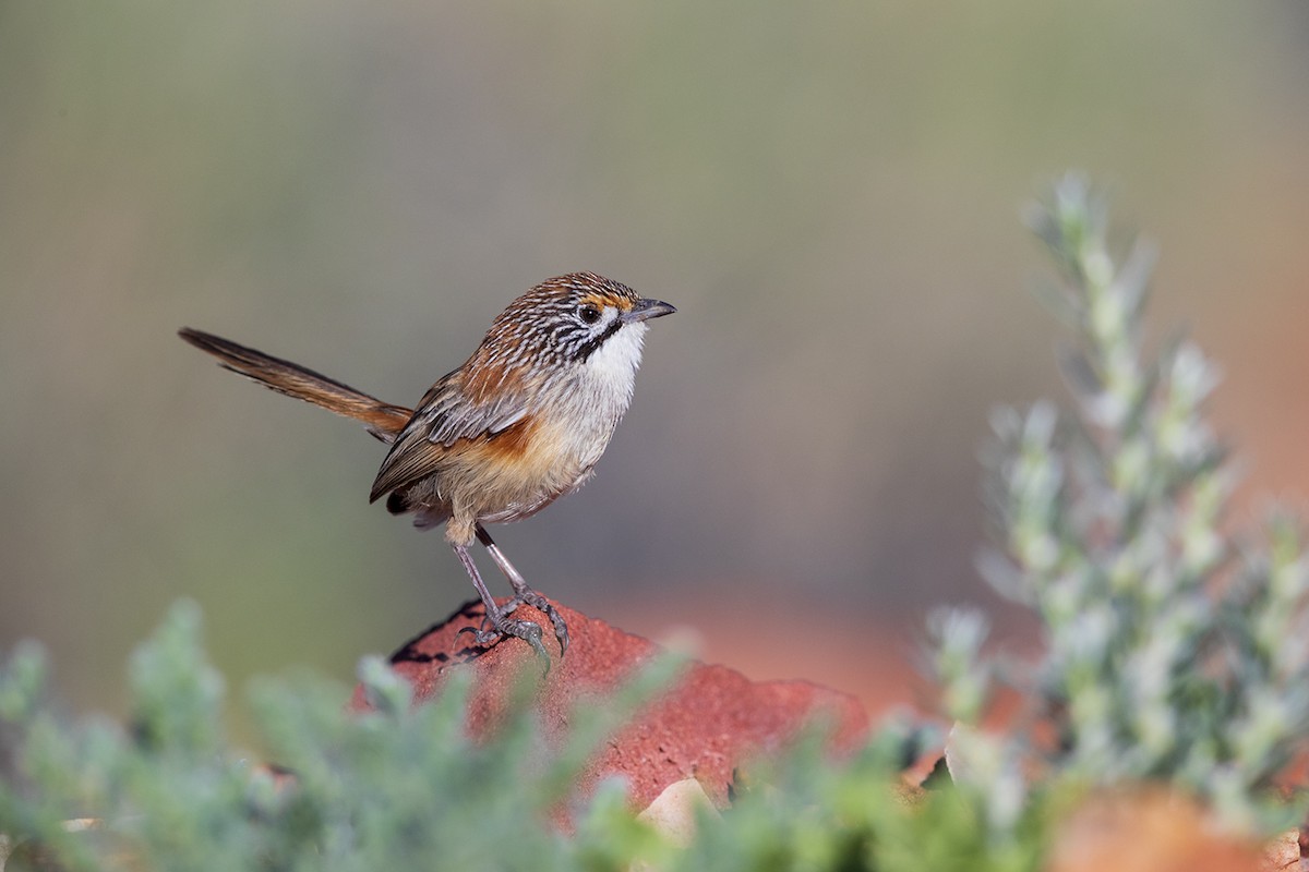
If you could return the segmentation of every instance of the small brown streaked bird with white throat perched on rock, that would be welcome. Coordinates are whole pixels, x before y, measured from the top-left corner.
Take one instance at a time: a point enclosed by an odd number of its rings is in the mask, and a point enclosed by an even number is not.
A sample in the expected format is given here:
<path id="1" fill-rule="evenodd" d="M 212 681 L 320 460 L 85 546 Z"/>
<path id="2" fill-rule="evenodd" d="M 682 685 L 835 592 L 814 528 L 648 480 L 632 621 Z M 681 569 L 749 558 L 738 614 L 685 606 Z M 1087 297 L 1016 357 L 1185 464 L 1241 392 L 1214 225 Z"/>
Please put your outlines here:
<path id="1" fill-rule="evenodd" d="M 480 345 L 411 408 L 391 405 L 298 363 L 190 327 L 178 335 L 219 365 L 279 394 L 363 422 L 387 443 L 369 502 L 386 497 L 445 540 L 484 608 L 479 646 L 505 637 L 545 658 L 542 629 L 512 617 L 522 604 L 551 622 L 560 656 L 568 626 L 495 544 L 486 526 L 529 518 L 592 477 L 632 399 L 648 322 L 675 312 L 593 272 L 548 278 L 514 299 Z M 479 541 L 513 588 L 497 605 L 473 561 Z"/>

